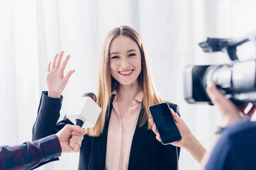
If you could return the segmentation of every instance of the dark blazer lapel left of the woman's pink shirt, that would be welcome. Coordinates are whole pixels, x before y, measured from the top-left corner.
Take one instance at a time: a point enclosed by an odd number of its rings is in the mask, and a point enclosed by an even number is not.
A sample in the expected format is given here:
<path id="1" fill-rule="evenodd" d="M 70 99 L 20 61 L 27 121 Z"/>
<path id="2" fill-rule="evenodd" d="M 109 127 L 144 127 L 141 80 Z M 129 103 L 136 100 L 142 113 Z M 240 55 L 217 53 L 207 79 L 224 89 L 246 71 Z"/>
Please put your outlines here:
<path id="1" fill-rule="evenodd" d="M 110 107 L 109 107 L 110 112 L 109 112 L 109 116 L 106 117 L 104 130 L 103 130 L 101 136 L 99 136 L 97 138 L 98 158 L 99 158 L 100 170 L 105 170 L 107 140 L 108 140 L 108 125 L 109 125 L 109 119 L 110 119 L 110 116 L 111 116 L 112 106 L 113 106 L 113 104 L 112 104 L 112 100 L 111 100 Z"/>

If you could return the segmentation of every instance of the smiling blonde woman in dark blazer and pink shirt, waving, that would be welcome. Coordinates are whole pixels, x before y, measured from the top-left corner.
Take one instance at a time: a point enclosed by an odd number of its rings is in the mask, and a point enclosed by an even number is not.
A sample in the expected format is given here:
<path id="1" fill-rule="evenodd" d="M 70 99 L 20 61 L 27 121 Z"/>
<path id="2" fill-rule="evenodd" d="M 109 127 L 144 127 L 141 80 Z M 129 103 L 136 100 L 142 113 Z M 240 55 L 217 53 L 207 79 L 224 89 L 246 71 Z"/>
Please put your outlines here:
<path id="1" fill-rule="evenodd" d="M 64 77 L 69 56 L 59 68 L 62 56 L 63 52 L 58 61 L 56 55 L 52 64 L 49 63 L 48 94 L 42 94 L 33 140 L 72 124 L 67 117 L 57 123 L 61 93 L 74 72 L 69 71 Z M 108 33 L 102 48 L 98 80 L 96 96 L 102 112 L 95 127 L 86 129 L 79 169 L 176 170 L 180 147 L 158 142 L 148 123 L 151 118 L 148 107 L 165 101 L 154 88 L 145 45 L 134 29 L 120 26 Z M 168 104 L 178 113 L 177 105 Z"/>

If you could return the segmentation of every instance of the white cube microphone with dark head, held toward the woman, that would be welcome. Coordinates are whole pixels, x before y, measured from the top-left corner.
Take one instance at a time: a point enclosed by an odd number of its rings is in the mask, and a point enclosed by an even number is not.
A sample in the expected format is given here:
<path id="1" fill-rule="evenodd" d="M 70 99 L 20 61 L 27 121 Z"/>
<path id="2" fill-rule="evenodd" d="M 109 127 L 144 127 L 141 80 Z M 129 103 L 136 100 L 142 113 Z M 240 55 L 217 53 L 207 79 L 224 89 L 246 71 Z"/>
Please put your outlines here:
<path id="1" fill-rule="evenodd" d="M 96 104 L 96 95 L 93 93 L 85 93 L 82 100 L 84 105 L 78 106 L 79 113 L 68 113 L 66 116 L 74 125 L 81 128 L 94 127 L 102 108 Z"/>

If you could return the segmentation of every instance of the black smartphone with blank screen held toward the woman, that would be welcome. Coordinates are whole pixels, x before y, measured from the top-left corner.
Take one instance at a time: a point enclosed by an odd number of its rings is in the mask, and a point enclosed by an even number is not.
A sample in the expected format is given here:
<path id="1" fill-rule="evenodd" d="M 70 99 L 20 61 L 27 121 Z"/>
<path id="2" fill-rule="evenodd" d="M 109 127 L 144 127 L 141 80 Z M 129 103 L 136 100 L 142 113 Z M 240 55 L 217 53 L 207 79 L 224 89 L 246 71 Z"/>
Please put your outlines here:
<path id="1" fill-rule="evenodd" d="M 153 105 L 148 109 L 163 144 L 171 144 L 181 140 L 180 132 L 167 103 Z"/>

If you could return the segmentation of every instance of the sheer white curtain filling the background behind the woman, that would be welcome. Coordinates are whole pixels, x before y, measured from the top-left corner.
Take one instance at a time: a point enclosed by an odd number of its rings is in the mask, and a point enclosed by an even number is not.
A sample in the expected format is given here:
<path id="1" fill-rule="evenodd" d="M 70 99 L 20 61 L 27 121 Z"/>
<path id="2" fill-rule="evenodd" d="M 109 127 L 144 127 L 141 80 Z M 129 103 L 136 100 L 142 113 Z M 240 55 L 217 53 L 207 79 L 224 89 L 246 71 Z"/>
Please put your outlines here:
<path id="1" fill-rule="evenodd" d="M 31 141 L 41 91 L 47 90 L 47 63 L 61 50 L 75 69 L 63 92 L 61 117 L 77 100 L 95 91 L 99 54 L 114 27 L 136 29 L 147 45 L 154 82 L 163 98 L 180 106 L 183 119 L 209 148 L 220 116 L 208 105 L 183 99 L 183 69 L 188 64 L 229 62 L 225 54 L 204 54 L 206 37 L 239 37 L 256 30 L 255 0 L 1 0 L 0 145 Z M 79 154 L 62 154 L 41 170 L 74 170 Z M 199 164 L 184 149 L 180 170 Z"/>

